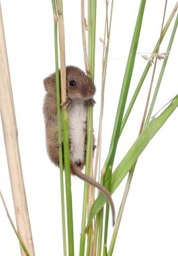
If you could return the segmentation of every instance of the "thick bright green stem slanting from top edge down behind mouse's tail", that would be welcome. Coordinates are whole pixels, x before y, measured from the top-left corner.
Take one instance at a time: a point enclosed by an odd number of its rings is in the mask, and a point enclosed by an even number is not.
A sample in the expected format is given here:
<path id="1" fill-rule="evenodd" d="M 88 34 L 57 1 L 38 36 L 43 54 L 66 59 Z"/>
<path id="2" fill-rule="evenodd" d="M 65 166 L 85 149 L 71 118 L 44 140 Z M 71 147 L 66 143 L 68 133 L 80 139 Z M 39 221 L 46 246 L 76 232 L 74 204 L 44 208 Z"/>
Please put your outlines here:
<path id="1" fill-rule="evenodd" d="M 140 8 L 138 11 L 138 16 L 137 16 L 137 20 L 136 20 L 136 26 L 134 29 L 134 35 L 132 38 L 132 44 L 130 46 L 130 53 L 129 53 L 129 57 L 128 57 L 128 63 L 126 65 L 126 71 L 124 74 L 124 80 L 123 80 L 123 84 L 122 84 L 122 90 L 120 93 L 120 100 L 119 100 L 119 104 L 118 104 L 118 111 L 116 114 L 116 121 L 114 124 L 114 131 L 113 131 L 113 135 L 112 135 L 112 141 L 111 141 L 111 145 L 109 148 L 109 158 L 107 156 L 107 160 L 105 161 L 103 170 L 102 170 L 102 174 L 105 174 L 105 170 L 108 170 L 108 166 L 110 168 L 110 171 L 108 172 L 108 183 L 107 183 L 107 189 L 108 191 L 111 190 L 111 184 L 112 184 L 112 165 L 114 162 L 114 157 L 116 154 L 116 148 L 118 145 L 118 139 L 119 139 L 119 135 L 120 135 L 120 127 L 122 125 L 122 118 L 124 115 L 124 108 L 126 106 L 126 99 L 128 96 L 128 90 L 130 87 L 130 81 L 132 78 L 132 72 L 134 69 L 134 61 L 135 61 L 135 57 L 136 57 L 136 49 L 138 46 L 138 40 L 140 37 L 140 30 L 141 30 L 141 26 L 142 26 L 142 18 L 143 18 L 143 14 L 144 14 L 144 7 L 146 4 L 146 0 L 142 0 L 140 1 Z M 111 155 L 110 155 L 110 152 Z M 109 205 L 107 203 L 106 206 L 106 212 L 105 212 L 105 234 L 104 234 L 104 251 L 103 251 L 103 255 L 106 255 L 106 244 L 107 244 L 107 230 L 108 230 L 108 222 L 109 222 Z"/>

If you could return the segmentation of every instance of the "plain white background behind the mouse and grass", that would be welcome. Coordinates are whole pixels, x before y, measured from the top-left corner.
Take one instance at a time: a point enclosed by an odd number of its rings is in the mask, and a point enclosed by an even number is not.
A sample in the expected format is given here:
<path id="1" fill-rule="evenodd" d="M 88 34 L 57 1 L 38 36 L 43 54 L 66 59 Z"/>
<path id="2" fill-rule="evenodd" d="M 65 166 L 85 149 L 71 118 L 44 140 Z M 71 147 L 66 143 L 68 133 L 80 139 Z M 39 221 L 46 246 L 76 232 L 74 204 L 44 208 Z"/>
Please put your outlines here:
<path id="1" fill-rule="evenodd" d="M 138 53 L 151 53 L 161 30 L 165 1 L 147 1 Z M 169 0 L 165 20 L 167 21 L 176 1 Z M 113 27 L 108 61 L 108 74 L 105 87 L 105 110 L 103 120 L 102 164 L 107 156 L 112 127 L 118 106 L 118 98 L 127 55 L 130 49 L 134 25 L 138 13 L 139 0 L 115 1 Z M 54 71 L 54 36 L 51 1 L 2 0 L 3 20 L 11 84 L 15 102 L 19 149 L 26 185 L 26 195 L 37 256 L 62 255 L 62 228 L 60 216 L 60 177 L 46 154 L 44 119 L 42 104 L 44 99 L 43 79 Z M 96 36 L 95 85 L 97 102 L 94 108 L 94 127 L 97 135 L 99 101 L 101 92 L 101 43 L 103 38 L 105 1 L 98 1 Z M 175 19 L 174 19 L 175 20 Z M 174 21 L 173 21 L 174 22 Z M 66 65 L 76 65 L 85 69 L 81 40 L 80 1 L 64 1 L 64 25 L 66 39 Z M 167 32 L 160 52 L 167 50 L 171 36 Z M 170 53 L 161 90 L 154 107 L 156 113 L 177 94 L 177 44 L 178 36 Z M 158 73 L 161 67 L 158 61 Z M 128 100 L 132 97 L 146 61 L 136 56 L 136 65 L 130 85 Z M 132 115 L 122 134 L 114 167 L 118 165 L 138 135 L 146 94 L 150 85 L 152 69 L 144 82 Z M 112 115 L 111 115 L 112 113 Z M 164 127 L 149 143 L 140 156 L 132 181 L 130 194 L 124 210 L 114 255 L 158 256 L 177 255 L 178 203 L 177 203 L 177 115 L 171 115 Z M 0 189 L 5 197 L 13 221 L 15 215 L 11 197 L 11 187 L 0 129 Z M 120 206 L 124 183 L 114 193 L 116 212 Z M 75 231 L 75 255 L 79 255 L 83 181 L 72 178 L 73 219 Z M 0 255 L 18 256 L 19 245 L 0 201 Z M 112 222 L 109 221 L 109 239 Z"/>

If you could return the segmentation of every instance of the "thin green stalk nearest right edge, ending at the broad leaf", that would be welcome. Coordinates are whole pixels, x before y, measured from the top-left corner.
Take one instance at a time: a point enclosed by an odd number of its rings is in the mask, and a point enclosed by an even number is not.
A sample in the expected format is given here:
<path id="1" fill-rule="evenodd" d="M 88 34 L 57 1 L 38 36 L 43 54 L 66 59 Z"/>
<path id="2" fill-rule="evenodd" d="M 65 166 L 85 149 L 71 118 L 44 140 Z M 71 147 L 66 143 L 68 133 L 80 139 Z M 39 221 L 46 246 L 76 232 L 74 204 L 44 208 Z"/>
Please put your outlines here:
<path id="1" fill-rule="evenodd" d="M 170 53 L 170 51 L 171 51 L 171 46 L 172 46 L 172 44 L 173 44 L 173 40 L 174 40 L 174 37 L 175 37 L 175 32 L 176 32 L 176 30 L 177 30 L 177 24 L 178 24 L 178 15 L 177 15 L 177 18 L 176 18 L 176 20 L 175 20 L 175 24 L 174 24 L 174 27 L 173 27 L 173 32 L 172 32 L 172 34 L 171 34 L 171 38 L 170 38 L 170 40 L 169 40 L 169 45 L 168 45 L 168 47 L 167 47 L 167 53 Z M 165 72 L 165 67 L 166 67 L 166 65 L 167 65 L 168 59 L 169 59 L 169 55 L 168 55 L 167 57 L 165 57 L 165 59 L 164 59 L 164 61 L 163 61 L 163 65 L 162 65 L 162 68 L 161 68 L 161 72 L 160 72 L 160 75 L 159 75 L 159 79 L 158 79 L 158 82 L 157 82 L 157 86 L 156 86 L 156 88 L 155 88 L 155 90 L 154 90 L 154 94 L 153 94 L 153 96 L 152 96 L 152 101 L 151 101 L 151 103 L 150 103 L 150 108 L 149 108 L 149 110 L 148 110 L 148 115 L 147 115 L 147 117 L 146 117 L 145 125 L 149 122 L 150 117 L 151 117 L 151 115 L 152 115 L 152 109 L 153 109 L 153 107 L 154 107 L 154 103 L 155 103 L 155 100 L 156 100 L 157 95 L 158 95 L 158 92 L 159 92 L 159 87 L 160 87 L 160 85 L 161 85 L 161 81 L 162 81 L 162 78 L 163 78 L 163 75 L 164 75 L 164 72 Z"/>

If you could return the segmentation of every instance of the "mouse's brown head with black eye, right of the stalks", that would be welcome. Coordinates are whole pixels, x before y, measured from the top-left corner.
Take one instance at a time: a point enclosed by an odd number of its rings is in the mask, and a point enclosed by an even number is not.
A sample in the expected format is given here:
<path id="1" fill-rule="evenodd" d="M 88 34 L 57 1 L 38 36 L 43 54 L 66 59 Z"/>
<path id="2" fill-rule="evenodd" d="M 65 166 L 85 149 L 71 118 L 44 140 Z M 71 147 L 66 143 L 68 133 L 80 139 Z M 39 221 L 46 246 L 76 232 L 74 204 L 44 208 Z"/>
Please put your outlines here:
<path id="1" fill-rule="evenodd" d="M 95 94 L 95 85 L 78 67 L 66 67 L 66 90 L 71 99 L 88 100 Z"/>

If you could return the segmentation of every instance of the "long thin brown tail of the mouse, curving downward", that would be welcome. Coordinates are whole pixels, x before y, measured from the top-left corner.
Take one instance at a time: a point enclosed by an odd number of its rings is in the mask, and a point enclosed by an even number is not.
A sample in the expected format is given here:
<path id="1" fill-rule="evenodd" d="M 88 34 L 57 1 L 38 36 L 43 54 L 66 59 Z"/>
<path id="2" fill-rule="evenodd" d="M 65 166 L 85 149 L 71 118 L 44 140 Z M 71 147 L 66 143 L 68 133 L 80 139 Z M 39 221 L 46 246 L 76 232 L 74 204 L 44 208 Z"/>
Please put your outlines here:
<path id="1" fill-rule="evenodd" d="M 112 221 L 113 221 L 113 226 L 115 224 L 115 208 L 114 208 L 114 202 L 112 200 L 112 197 L 109 193 L 109 191 L 100 183 L 98 183 L 97 181 L 95 181 L 94 179 L 92 179 L 91 177 L 87 176 L 86 174 L 84 174 L 81 171 L 77 171 L 75 172 L 75 175 L 77 177 L 79 177 L 79 179 L 82 179 L 83 181 L 89 183 L 89 185 L 96 187 L 97 189 L 99 189 L 99 191 L 101 191 L 103 193 L 103 195 L 105 195 L 111 210 L 112 210 Z"/>

